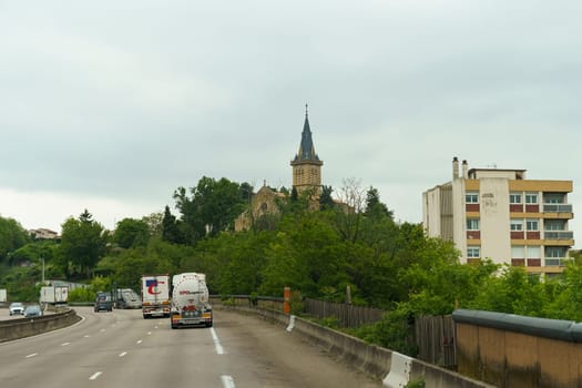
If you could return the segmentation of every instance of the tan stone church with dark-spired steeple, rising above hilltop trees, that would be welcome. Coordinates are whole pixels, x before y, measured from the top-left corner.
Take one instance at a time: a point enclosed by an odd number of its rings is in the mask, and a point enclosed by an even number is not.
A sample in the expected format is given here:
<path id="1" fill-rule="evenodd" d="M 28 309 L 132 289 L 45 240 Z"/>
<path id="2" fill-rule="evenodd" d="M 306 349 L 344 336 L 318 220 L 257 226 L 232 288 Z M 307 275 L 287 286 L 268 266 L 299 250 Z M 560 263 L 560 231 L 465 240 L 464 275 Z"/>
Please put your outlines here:
<path id="1" fill-rule="evenodd" d="M 297 194 L 306 191 L 312 191 L 315 196 L 321 194 L 323 165 L 324 162 L 315 152 L 312 129 L 309 126 L 309 113 L 307 111 L 307 105 L 305 105 L 305 122 L 303 124 L 299 151 L 290 161 L 293 170 L 293 188 L 297 191 Z M 257 219 L 264 218 L 268 215 L 279 215 L 280 210 L 277 202 L 284 200 L 284 193 L 275 192 L 267 186 L 266 182 L 264 182 L 263 187 L 253 195 L 249 208 L 235 219 L 235 231 L 239 232 L 249 229 L 253 223 Z"/>

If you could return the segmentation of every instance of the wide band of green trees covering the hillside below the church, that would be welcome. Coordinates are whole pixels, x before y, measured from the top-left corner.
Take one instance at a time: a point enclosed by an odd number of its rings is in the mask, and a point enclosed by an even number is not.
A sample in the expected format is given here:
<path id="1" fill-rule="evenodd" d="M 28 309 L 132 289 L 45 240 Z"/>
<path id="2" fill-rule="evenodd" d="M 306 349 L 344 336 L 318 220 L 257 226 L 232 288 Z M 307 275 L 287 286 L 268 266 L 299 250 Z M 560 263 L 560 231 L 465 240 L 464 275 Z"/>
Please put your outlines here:
<path id="1" fill-rule="evenodd" d="M 459 307 L 582 320 L 579 258 L 547 279 L 487 258 L 463 265 L 451 242 L 396 222 L 378 191 L 355 180 L 344 182 L 337 200 L 328 186 L 319 196 L 275 191 L 280 212 L 251 219 L 242 232 L 234 221 L 248 210 L 253 187 L 224 177 L 176 188 L 175 214 L 165 206 L 124 218 L 114 231 L 85 210 L 63 223 L 59 242 L 33 241 L 18 222 L 0 217 L 0 288 L 34 295 L 27 289 L 38 287 L 41 258 L 47 278 L 100 288 L 139 289 L 142 274 L 181 272 L 205 273 L 219 295 L 282 296 L 288 286 L 304 297 L 344 302 L 349 287 L 351 303 L 391 313 L 361 336 L 406 353 L 407 344 L 395 344 L 406 323 Z"/>

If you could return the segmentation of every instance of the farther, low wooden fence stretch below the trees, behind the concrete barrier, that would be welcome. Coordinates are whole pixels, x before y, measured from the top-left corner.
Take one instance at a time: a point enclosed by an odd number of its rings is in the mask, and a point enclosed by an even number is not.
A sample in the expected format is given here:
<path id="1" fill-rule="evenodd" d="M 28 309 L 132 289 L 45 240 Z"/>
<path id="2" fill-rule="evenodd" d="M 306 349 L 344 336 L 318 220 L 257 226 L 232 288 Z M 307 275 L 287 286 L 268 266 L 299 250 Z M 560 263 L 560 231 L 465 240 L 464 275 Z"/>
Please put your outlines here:
<path id="1" fill-rule="evenodd" d="M 372 324 L 381 319 L 382 309 L 354 306 L 341 303 L 324 302 L 316 299 L 304 299 L 305 313 L 325 319 L 336 317 L 340 327 L 358 327 L 364 324 Z"/>

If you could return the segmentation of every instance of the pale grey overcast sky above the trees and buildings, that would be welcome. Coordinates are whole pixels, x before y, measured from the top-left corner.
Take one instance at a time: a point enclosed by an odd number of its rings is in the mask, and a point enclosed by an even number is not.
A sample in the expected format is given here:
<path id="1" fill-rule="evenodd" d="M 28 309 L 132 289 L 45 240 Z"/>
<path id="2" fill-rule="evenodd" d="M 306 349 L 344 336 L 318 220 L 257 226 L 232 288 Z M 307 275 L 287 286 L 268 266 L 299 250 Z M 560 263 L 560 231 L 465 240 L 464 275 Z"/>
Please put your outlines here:
<path id="1" fill-rule="evenodd" d="M 469 169 L 573 181 L 578 0 L 0 0 L 0 215 L 60 232 L 174 214 L 203 176 L 292 185 L 305 119 L 334 193 L 398 221 Z M 574 238 L 582 219 L 571 222 Z M 582 238 L 582 237 L 578 237 Z"/>

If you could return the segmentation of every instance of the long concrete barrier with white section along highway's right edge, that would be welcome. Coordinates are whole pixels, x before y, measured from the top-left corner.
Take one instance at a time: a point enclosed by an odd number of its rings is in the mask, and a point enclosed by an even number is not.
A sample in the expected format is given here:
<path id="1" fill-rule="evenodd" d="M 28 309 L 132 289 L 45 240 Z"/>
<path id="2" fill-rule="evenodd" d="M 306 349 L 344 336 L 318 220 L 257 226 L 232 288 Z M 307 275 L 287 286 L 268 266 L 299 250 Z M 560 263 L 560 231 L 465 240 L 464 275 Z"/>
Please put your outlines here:
<path id="1" fill-rule="evenodd" d="M 388 388 L 406 387 L 410 381 L 418 381 L 419 386 L 430 388 L 494 387 L 416 358 L 410 358 L 376 345 L 366 344 L 359 338 L 297 316 L 243 306 L 222 306 L 215 304 L 213 307 L 215 309 L 227 309 L 256 315 L 280 325 L 290 335 L 306 339 L 310 344 L 334 355 L 346 365 L 349 365 L 349 367 L 374 376 L 378 380 L 381 380 L 382 385 Z"/>

